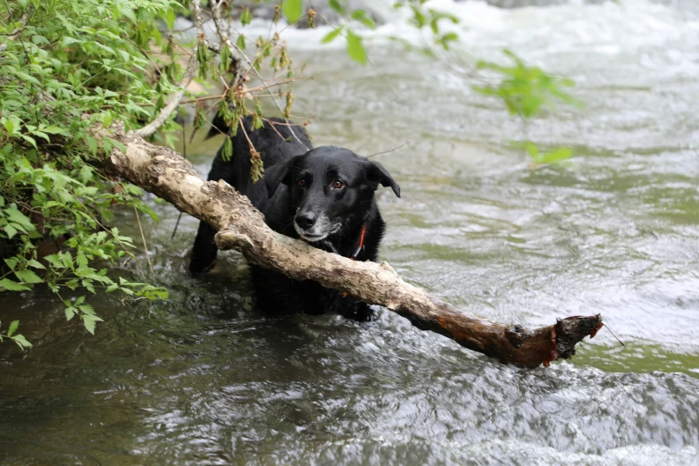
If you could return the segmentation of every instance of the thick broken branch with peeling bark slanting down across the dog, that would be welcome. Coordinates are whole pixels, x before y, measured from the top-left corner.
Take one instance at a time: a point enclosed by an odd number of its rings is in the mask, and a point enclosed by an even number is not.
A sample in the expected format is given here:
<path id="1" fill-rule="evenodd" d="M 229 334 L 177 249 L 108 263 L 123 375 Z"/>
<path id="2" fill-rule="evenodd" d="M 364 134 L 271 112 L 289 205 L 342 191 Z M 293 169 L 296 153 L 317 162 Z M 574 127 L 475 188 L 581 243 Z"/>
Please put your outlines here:
<path id="1" fill-rule="evenodd" d="M 180 211 L 219 230 L 216 245 L 236 249 L 245 259 L 297 280 L 353 295 L 397 312 L 423 330 L 431 330 L 501 362 L 534 368 L 570 358 L 583 337 L 595 336 L 600 315 L 570 317 L 539 329 L 507 326 L 459 311 L 419 287 L 405 283 L 387 262 L 353 262 L 271 230 L 247 197 L 224 181 L 204 181 L 191 163 L 134 133 L 116 137 L 126 153 L 114 149 L 110 171 L 171 202 Z"/>

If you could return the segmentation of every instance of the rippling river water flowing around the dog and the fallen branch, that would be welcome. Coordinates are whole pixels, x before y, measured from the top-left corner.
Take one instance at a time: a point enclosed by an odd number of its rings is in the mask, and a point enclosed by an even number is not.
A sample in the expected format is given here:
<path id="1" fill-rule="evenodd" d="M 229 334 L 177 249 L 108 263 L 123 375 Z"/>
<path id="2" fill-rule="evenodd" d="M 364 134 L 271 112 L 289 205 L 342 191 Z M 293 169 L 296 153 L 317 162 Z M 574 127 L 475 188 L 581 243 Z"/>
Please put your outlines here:
<path id="1" fill-rule="evenodd" d="M 570 362 L 507 367 L 385 310 L 270 318 L 254 310 L 244 260 L 185 272 L 196 221 L 144 229 L 171 299 L 90 299 L 96 336 L 45 292 L 0 296 L 35 347 L 0 346 L 0 462 L 7 464 L 699 464 L 699 12 L 626 0 L 459 15 L 463 53 L 509 47 L 578 82 L 582 110 L 533 122 L 568 165 L 528 166 L 518 121 L 442 64 L 371 33 L 371 67 L 319 31 L 287 31 L 295 112 L 316 145 L 380 154 L 402 187 L 379 203 L 382 257 L 471 312 L 527 326 L 601 312 Z M 267 30 L 266 24 L 251 28 Z M 396 92 L 401 96 L 396 96 Z M 203 174 L 220 140 L 187 147 Z M 138 237 L 129 212 L 114 224 Z M 133 264 L 120 273 L 139 276 Z"/>

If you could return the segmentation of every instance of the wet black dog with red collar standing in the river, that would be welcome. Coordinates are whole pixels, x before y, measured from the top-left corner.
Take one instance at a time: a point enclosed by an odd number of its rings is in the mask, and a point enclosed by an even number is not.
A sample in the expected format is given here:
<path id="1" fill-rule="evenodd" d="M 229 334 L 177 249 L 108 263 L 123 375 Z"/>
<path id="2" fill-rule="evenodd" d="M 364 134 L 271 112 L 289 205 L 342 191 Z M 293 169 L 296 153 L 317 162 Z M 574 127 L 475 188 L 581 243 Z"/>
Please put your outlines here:
<path id="1" fill-rule="evenodd" d="M 274 122 L 281 124 L 274 124 Z M 358 261 L 376 261 L 386 224 L 374 192 L 379 184 L 400 187 L 378 162 L 339 147 L 312 147 L 300 127 L 282 121 L 265 122 L 245 132 L 264 163 L 263 182 L 250 179 L 250 148 L 240 129 L 233 137 L 233 156 L 224 162 L 221 150 L 213 160 L 209 180 L 224 179 L 248 196 L 271 229 L 328 252 Z M 216 231 L 199 224 L 189 270 L 204 272 L 216 258 Z M 370 320 L 370 307 L 318 283 L 288 279 L 278 272 L 252 267 L 257 304 L 263 311 L 320 314 L 337 312 L 355 320 Z"/>

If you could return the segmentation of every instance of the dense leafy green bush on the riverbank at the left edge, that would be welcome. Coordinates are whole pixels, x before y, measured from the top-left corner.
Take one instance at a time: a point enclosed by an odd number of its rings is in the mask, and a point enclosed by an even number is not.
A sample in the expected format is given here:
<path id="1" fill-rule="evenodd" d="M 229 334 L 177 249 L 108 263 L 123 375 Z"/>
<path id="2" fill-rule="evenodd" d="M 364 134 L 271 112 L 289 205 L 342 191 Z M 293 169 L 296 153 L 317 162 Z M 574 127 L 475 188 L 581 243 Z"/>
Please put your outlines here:
<path id="1" fill-rule="evenodd" d="M 109 227 L 122 204 L 155 214 L 137 187 L 97 168 L 121 145 L 93 136 L 112 121 L 127 129 L 150 120 L 162 95 L 176 89 L 149 57 L 162 43 L 160 18 L 175 19 L 171 0 L 25 0 L 0 8 L 0 292 L 46 285 L 60 295 L 85 290 L 147 299 L 164 290 L 114 280 L 107 266 L 133 259 L 129 237 Z M 12 31 L 15 34 L 10 34 Z M 174 67 L 172 67 L 174 69 Z M 53 249 L 53 254 L 39 252 Z M 85 295 L 66 316 L 95 331 Z M 14 322 L 13 322 L 14 324 Z M 29 342 L 4 337 L 22 348 Z M 2 339 L 0 337 L 0 339 Z"/>

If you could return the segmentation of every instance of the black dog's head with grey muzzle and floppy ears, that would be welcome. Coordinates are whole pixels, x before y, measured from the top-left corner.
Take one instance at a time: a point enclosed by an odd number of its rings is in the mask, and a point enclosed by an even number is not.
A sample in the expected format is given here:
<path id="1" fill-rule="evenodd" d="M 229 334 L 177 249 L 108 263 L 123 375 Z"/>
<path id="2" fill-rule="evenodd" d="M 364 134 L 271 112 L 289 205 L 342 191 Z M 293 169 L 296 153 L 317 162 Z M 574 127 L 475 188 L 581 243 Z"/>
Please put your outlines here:
<path id="1" fill-rule="evenodd" d="M 309 242 L 362 221 L 379 184 L 401 196 L 401 188 L 379 162 L 331 146 L 271 166 L 264 171 L 264 181 L 270 197 L 279 184 L 288 186 L 294 229 Z"/>

